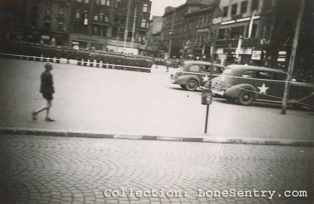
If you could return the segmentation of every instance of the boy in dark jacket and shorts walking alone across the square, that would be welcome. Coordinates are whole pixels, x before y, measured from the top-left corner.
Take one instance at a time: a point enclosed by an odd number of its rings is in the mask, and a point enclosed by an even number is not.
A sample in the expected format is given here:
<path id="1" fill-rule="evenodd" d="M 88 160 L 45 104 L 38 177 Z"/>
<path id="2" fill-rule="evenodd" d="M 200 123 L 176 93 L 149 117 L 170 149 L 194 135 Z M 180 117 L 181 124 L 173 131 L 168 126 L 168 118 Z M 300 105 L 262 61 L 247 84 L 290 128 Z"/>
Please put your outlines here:
<path id="1" fill-rule="evenodd" d="M 53 81 L 52 81 L 52 74 L 50 71 L 53 68 L 53 64 L 51 62 L 45 63 L 45 71 L 41 73 L 41 85 L 40 85 L 40 93 L 42 93 L 42 96 L 47 101 L 47 105 L 41 106 L 39 109 L 31 112 L 32 120 L 37 120 L 37 114 L 40 113 L 43 110 L 46 110 L 46 118 L 45 121 L 52 122 L 55 121 L 51 117 L 49 117 L 49 112 L 51 108 L 51 101 L 52 101 L 52 94 L 55 93 L 53 89 Z"/>

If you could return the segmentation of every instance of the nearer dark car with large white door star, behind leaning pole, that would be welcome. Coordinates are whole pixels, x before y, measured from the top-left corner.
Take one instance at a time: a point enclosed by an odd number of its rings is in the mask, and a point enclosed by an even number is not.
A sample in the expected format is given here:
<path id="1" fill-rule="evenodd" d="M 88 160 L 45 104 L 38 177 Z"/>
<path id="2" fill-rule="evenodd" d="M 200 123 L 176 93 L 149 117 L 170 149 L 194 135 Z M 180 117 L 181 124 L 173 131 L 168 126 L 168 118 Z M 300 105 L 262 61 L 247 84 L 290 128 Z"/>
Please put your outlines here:
<path id="1" fill-rule="evenodd" d="M 212 79 L 211 91 L 229 102 L 237 100 L 240 105 L 253 101 L 281 103 L 287 72 L 250 65 L 229 65 L 222 74 Z M 295 107 L 313 107 L 314 84 L 290 82 L 287 104 Z M 207 84 L 205 84 L 205 87 Z"/>

